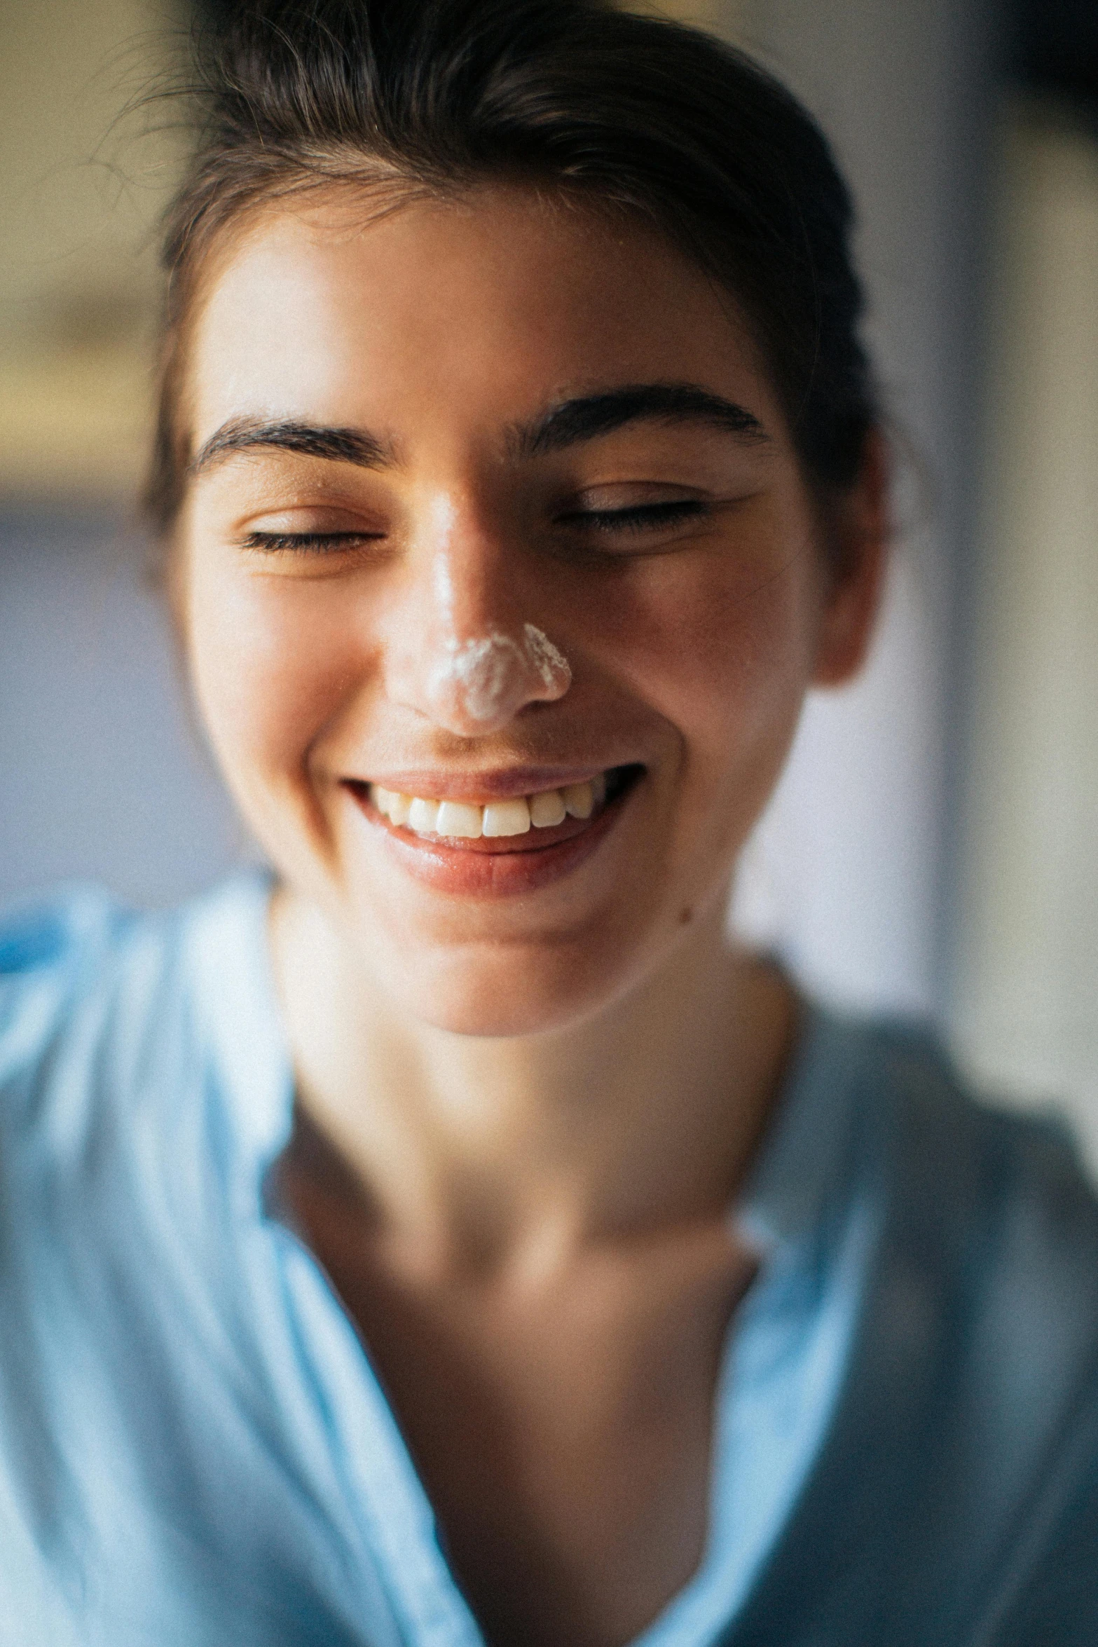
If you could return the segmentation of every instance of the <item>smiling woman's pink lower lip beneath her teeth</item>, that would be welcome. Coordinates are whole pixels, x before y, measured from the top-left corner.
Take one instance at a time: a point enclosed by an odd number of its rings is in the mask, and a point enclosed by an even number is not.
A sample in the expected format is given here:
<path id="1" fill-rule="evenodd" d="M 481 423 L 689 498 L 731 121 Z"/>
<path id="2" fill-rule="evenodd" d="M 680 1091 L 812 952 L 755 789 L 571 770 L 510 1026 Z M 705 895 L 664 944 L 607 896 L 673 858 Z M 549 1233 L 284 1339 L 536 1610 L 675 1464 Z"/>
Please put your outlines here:
<path id="1" fill-rule="evenodd" d="M 563 840 L 535 843 L 530 842 L 530 835 L 535 833 L 530 830 L 527 835 L 504 835 L 497 840 L 481 837 L 464 845 L 448 845 L 441 840 L 425 840 L 421 835 L 412 835 L 390 824 L 365 794 L 351 784 L 346 789 L 364 817 L 384 835 L 387 848 L 403 870 L 438 893 L 454 893 L 466 898 L 512 898 L 519 893 L 538 891 L 542 886 L 550 886 L 561 876 L 571 875 L 596 851 L 632 794 L 632 787 L 627 789 L 589 822 L 575 820 L 578 828 L 571 819 L 558 825 L 558 830 L 570 825 L 575 830 Z M 556 835 L 556 830 L 551 833 Z"/>

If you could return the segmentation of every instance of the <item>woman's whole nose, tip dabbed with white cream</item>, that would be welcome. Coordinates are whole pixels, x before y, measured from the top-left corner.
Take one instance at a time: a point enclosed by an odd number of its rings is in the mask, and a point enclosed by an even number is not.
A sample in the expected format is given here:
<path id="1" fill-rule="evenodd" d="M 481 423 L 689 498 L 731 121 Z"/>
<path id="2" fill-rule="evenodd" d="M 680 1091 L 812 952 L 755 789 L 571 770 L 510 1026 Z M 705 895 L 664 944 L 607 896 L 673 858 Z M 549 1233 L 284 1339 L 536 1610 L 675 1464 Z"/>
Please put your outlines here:
<path id="1" fill-rule="evenodd" d="M 390 695 L 459 738 L 502 731 L 528 703 L 561 698 L 568 659 L 525 616 L 509 547 L 449 497 L 435 501 L 418 547 L 418 600 L 402 613 Z"/>

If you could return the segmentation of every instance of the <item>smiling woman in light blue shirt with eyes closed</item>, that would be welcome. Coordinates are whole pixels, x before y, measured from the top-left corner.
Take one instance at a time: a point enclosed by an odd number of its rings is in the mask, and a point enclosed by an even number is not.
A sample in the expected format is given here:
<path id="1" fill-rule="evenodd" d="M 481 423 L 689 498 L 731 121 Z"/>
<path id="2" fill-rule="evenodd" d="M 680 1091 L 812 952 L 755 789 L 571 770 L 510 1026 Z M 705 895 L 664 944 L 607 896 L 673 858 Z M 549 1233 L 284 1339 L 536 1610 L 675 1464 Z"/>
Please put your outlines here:
<path id="1" fill-rule="evenodd" d="M 275 873 L 3 929 L 5 1640 L 1091 1640 L 1070 1151 L 726 939 L 887 534 L 823 138 L 596 0 L 206 84 L 150 502 Z"/>

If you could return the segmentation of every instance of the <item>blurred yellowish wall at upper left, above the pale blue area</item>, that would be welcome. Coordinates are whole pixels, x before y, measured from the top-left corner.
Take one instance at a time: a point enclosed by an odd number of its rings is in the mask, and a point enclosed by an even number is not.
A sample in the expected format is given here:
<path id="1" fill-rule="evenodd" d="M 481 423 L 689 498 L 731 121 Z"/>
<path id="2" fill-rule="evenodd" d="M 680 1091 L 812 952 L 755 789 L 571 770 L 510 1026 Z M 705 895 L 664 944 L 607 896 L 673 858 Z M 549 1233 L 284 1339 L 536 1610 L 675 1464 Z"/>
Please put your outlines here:
<path id="1" fill-rule="evenodd" d="M 0 0 L 0 496 L 119 502 L 143 460 L 170 0 Z"/>

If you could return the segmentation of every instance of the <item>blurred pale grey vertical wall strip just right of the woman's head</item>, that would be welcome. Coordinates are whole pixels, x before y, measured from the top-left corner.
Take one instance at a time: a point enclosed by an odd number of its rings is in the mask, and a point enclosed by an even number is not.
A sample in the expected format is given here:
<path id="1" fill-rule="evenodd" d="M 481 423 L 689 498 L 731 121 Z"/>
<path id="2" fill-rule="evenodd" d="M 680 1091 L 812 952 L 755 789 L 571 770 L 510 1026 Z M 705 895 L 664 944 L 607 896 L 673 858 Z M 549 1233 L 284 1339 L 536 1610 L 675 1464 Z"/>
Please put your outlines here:
<path id="1" fill-rule="evenodd" d="M 733 38 L 817 112 L 853 184 L 868 336 L 899 458 L 897 542 L 869 669 L 810 700 L 741 912 L 818 993 L 938 1016 L 1001 10 L 742 0 L 728 13 Z"/>

